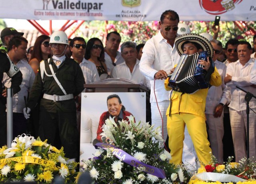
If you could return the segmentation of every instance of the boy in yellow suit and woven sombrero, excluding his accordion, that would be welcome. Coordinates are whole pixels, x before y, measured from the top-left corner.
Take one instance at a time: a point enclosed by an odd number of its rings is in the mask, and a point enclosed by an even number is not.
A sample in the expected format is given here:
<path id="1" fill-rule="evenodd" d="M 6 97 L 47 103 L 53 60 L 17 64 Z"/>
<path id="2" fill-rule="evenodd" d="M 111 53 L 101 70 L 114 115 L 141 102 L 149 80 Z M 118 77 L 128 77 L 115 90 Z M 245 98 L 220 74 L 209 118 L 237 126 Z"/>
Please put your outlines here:
<path id="1" fill-rule="evenodd" d="M 200 51 L 207 51 L 208 55 L 212 56 L 214 52 L 210 42 L 198 34 L 178 36 L 175 39 L 175 47 L 179 55 L 183 53 L 192 55 Z M 214 62 L 211 61 L 211 57 L 207 57 L 206 61 L 199 59 L 198 65 L 201 65 L 206 71 L 204 79 L 210 85 L 221 85 L 222 79 L 214 66 Z M 173 73 L 174 69 L 171 69 L 170 73 Z M 169 78 L 165 80 L 165 88 L 166 90 L 173 89 L 169 85 Z M 210 152 L 212 150 L 207 139 L 206 117 L 204 113 L 207 93 L 208 87 L 206 89 L 199 89 L 193 94 L 182 93 L 182 90 L 172 91 L 170 105 L 166 111 L 169 148 L 172 156 L 170 162 L 174 164 L 182 163 L 182 148 L 186 125 L 199 161 L 204 164 L 210 163 Z"/>

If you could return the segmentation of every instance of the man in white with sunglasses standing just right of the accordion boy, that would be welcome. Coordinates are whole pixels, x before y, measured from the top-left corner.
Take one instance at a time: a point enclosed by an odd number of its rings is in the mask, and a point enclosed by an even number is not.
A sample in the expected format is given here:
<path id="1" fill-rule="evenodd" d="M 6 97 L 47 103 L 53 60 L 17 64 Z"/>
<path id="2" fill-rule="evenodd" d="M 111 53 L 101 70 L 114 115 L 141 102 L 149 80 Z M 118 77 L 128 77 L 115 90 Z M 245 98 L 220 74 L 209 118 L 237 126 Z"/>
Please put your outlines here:
<path id="1" fill-rule="evenodd" d="M 222 50 L 222 43 L 218 40 L 210 41 L 214 48 L 214 55 L 212 61 L 215 63 L 215 67 L 218 69 L 222 81 L 226 75 L 226 65 L 217 60 Z M 226 103 L 229 103 L 230 95 L 228 87 L 222 82 L 222 85 L 209 88 L 208 95 L 206 97 L 206 123 L 209 127 L 208 136 L 210 138 L 210 145 L 212 148 L 212 154 L 216 156 L 219 163 L 223 163 L 223 144 L 222 138 L 224 135 L 223 124 L 223 107 Z"/>

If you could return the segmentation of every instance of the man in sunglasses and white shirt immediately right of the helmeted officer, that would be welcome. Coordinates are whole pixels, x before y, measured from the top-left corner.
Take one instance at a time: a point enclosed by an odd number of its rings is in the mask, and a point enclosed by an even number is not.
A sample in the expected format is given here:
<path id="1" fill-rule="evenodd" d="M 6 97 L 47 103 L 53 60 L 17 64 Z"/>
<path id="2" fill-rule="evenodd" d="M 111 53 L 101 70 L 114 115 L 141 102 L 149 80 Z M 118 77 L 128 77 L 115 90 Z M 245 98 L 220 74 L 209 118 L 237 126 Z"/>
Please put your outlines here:
<path id="1" fill-rule="evenodd" d="M 86 42 L 82 37 L 75 37 L 70 41 L 71 58 L 79 63 L 86 84 L 90 84 L 100 80 L 96 65 L 94 63 L 84 59 Z M 81 124 L 81 94 L 76 99 L 76 124 L 78 131 L 80 131 Z"/>

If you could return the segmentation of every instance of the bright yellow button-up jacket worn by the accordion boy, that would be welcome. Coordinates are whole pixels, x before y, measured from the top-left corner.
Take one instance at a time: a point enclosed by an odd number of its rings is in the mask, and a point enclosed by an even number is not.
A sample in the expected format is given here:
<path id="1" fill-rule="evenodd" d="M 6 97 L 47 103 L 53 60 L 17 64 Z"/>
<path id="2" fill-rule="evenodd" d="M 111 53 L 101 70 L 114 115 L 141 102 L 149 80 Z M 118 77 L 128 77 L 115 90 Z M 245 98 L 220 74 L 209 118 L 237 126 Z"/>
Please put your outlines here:
<path id="1" fill-rule="evenodd" d="M 167 91 L 171 90 L 172 88 L 168 86 L 169 78 L 164 81 L 164 86 Z M 212 86 L 219 86 L 221 85 L 221 77 L 218 73 L 216 67 L 214 68 L 214 72 L 210 77 L 210 85 Z M 208 88 L 206 89 L 199 89 L 194 94 L 187 94 L 181 93 L 178 91 L 172 91 L 171 97 L 171 114 L 176 113 L 190 113 L 194 115 L 201 116 L 205 118 L 205 104 L 206 104 L 206 96 L 208 93 Z M 170 105 L 166 111 L 166 115 L 170 114 Z"/>

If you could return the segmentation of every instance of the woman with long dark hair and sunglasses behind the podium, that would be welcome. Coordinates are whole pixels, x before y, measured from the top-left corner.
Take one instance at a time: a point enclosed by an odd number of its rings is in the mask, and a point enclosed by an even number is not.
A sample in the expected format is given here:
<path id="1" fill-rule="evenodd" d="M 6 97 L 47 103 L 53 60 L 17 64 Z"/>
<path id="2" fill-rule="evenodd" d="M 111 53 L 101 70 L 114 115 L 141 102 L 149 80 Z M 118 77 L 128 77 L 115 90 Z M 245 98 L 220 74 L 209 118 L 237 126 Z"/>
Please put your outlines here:
<path id="1" fill-rule="evenodd" d="M 104 63 L 104 47 L 100 39 L 88 40 L 84 58 L 96 65 L 100 79 L 110 78 L 106 63 Z"/>

